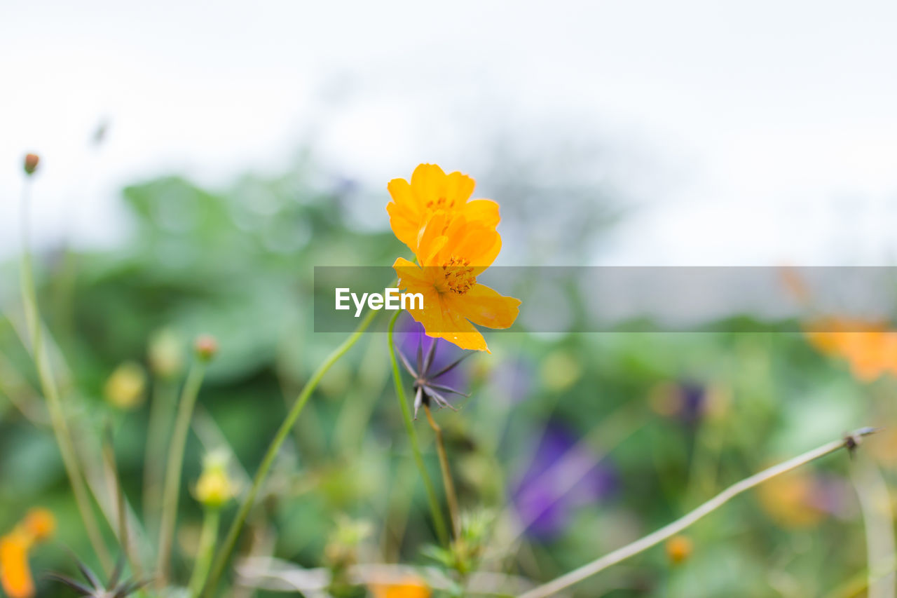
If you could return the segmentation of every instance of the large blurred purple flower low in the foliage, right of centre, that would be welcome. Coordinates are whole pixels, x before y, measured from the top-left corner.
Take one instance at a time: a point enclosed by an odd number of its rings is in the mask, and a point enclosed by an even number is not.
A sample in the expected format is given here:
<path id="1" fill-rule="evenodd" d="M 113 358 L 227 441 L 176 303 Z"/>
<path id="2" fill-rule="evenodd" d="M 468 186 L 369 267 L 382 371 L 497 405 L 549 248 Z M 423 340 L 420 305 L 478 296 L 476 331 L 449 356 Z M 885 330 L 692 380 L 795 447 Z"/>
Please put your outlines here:
<path id="1" fill-rule="evenodd" d="M 619 485 L 614 467 L 578 441 L 567 427 L 549 423 L 516 484 L 512 503 L 520 523 L 539 539 L 562 533 L 580 507 L 610 496 Z"/>

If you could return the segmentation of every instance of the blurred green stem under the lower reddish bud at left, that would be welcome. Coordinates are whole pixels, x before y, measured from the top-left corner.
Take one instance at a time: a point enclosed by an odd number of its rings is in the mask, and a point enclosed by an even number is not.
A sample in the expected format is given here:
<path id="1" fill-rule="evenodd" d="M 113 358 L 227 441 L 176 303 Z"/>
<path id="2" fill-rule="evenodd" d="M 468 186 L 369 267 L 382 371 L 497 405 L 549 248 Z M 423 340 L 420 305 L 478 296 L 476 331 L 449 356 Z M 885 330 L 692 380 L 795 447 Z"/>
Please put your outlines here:
<path id="1" fill-rule="evenodd" d="M 175 420 L 174 432 L 171 434 L 168 464 L 165 467 L 165 486 L 162 490 L 162 515 L 159 530 L 159 562 L 157 564 L 157 584 L 163 587 L 168 580 L 171 542 L 174 539 L 174 527 L 178 519 L 178 498 L 180 494 L 180 472 L 184 464 L 184 448 L 187 446 L 187 432 L 190 430 L 190 419 L 196 396 L 202 386 L 205 375 L 205 362 L 197 359 L 190 367 L 187 382 L 180 396 L 178 418 Z"/>

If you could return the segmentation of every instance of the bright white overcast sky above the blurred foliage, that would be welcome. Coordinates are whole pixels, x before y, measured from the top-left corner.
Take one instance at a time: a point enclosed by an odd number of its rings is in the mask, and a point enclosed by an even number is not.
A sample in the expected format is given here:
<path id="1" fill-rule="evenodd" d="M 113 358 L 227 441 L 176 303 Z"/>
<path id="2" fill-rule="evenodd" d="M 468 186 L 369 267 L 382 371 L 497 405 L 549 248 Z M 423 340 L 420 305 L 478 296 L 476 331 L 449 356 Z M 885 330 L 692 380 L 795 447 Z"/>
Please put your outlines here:
<path id="1" fill-rule="evenodd" d="M 276 172 L 312 136 L 328 166 L 385 186 L 419 162 L 468 170 L 498 114 L 523 131 L 571 115 L 664 165 L 672 184 L 601 263 L 889 263 L 895 31 L 893 0 L 6 2 L 0 254 L 27 151 L 44 159 L 39 240 L 97 244 L 126 233 L 126 183 Z"/>

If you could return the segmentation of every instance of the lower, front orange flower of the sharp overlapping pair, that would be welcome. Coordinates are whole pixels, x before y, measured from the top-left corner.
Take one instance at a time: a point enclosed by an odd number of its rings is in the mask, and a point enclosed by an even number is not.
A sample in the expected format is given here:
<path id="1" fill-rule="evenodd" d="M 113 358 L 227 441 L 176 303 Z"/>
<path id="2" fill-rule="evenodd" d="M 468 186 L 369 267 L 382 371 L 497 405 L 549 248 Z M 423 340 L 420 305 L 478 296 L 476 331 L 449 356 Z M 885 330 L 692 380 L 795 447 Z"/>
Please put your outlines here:
<path id="1" fill-rule="evenodd" d="M 464 349 L 489 351 L 474 324 L 509 328 L 520 300 L 499 295 L 476 277 L 501 250 L 501 236 L 491 224 L 455 215 L 434 215 L 418 235 L 420 266 L 404 258 L 393 268 L 399 287 L 423 296 L 422 309 L 409 309 L 428 336 L 446 339 Z"/>

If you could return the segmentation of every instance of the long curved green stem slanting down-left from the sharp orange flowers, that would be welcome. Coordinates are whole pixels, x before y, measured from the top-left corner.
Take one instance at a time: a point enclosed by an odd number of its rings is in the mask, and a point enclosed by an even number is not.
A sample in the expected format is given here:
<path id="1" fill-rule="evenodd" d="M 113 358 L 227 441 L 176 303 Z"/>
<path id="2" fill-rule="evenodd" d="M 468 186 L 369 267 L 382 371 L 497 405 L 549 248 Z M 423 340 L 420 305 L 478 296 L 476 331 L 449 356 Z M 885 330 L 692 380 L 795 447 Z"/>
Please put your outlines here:
<path id="1" fill-rule="evenodd" d="M 286 440 L 287 435 L 290 434 L 290 430 L 295 425 L 296 420 L 299 418 L 300 413 L 302 412 L 302 408 L 305 407 L 305 404 L 309 401 L 311 397 L 311 393 L 315 390 L 320 383 L 321 378 L 324 377 L 324 374 L 327 374 L 327 370 L 330 369 L 332 365 L 334 365 L 340 357 L 344 356 L 346 351 L 348 351 L 352 346 L 358 342 L 358 339 L 361 338 L 361 333 L 370 326 L 370 322 L 374 320 L 377 312 L 371 310 L 364 317 L 364 320 L 358 325 L 358 328 L 352 333 L 352 335 L 343 341 L 343 344 L 339 347 L 336 347 L 334 351 L 327 356 L 327 359 L 324 360 L 324 363 L 318 366 L 318 370 L 311 374 L 311 378 L 309 378 L 309 382 L 306 383 L 305 387 L 302 388 L 302 391 L 297 397 L 296 402 L 293 403 L 292 409 L 287 414 L 286 418 L 283 420 L 283 424 L 281 427 L 277 429 L 277 433 L 274 435 L 274 439 L 271 441 L 271 444 L 268 446 L 268 450 L 265 453 L 265 457 L 262 459 L 261 465 L 259 465 L 258 470 L 256 472 L 256 477 L 252 480 L 252 486 L 249 488 L 249 491 L 246 497 L 243 498 L 243 502 L 239 506 L 239 510 L 237 511 L 237 515 L 231 523 L 231 527 L 228 528 L 227 535 L 224 537 L 224 541 L 222 542 L 221 550 L 215 555 L 213 564 L 212 564 L 212 573 L 209 575 L 208 582 L 205 584 L 205 591 L 203 593 L 204 596 L 212 596 L 215 592 L 215 588 L 218 585 L 218 580 L 221 578 L 224 573 L 224 567 L 227 566 L 228 560 L 231 558 L 231 552 L 233 552 L 234 547 L 237 545 L 237 540 L 239 538 L 239 532 L 243 529 L 243 524 L 246 523 L 246 518 L 248 517 L 249 510 L 256 502 L 256 497 L 258 496 L 258 491 L 262 487 L 262 483 L 265 481 L 268 475 L 268 471 L 271 470 L 271 466 L 274 464 L 274 457 L 277 456 L 277 453 L 280 451 L 281 445 L 283 441 Z"/>

